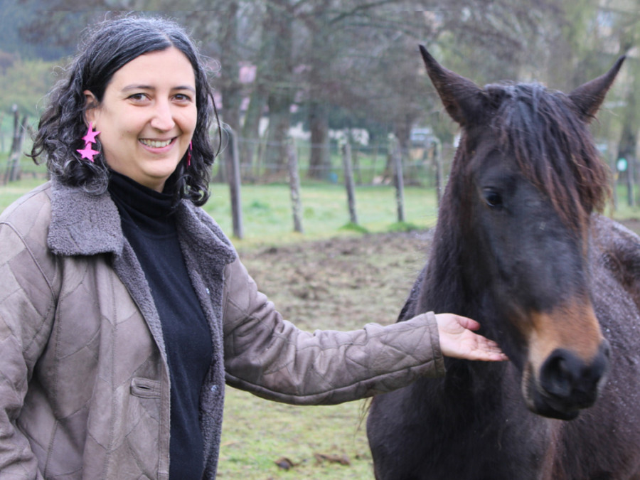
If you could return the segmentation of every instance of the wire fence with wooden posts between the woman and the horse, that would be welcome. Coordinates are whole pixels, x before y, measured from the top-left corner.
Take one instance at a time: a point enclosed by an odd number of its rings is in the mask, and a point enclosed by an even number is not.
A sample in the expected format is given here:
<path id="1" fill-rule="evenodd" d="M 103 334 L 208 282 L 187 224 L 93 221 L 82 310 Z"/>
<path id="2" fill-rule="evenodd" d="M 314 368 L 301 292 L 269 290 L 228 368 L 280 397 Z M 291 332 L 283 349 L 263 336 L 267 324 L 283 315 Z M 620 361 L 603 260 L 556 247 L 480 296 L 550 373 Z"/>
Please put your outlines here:
<path id="1" fill-rule="evenodd" d="M 350 223 L 353 225 L 358 225 L 353 201 L 357 185 L 393 185 L 398 223 L 401 224 L 405 223 L 405 184 L 436 186 L 438 200 L 442 195 L 444 168 L 439 144 L 402 151 L 395 137 L 390 137 L 388 144 L 382 146 L 347 142 L 318 146 L 292 138 L 278 144 L 260 144 L 247 142 L 233 132 L 229 132 L 228 138 L 223 161 L 218 164 L 218 176 L 225 177 L 220 180 L 228 181 L 230 186 L 233 235 L 236 238 L 243 237 L 240 201 L 243 181 L 288 181 L 294 223 L 297 225 L 301 221 L 301 176 L 314 178 L 315 181 L 343 183 L 349 199 Z M 311 161 L 314 157 L 316 162 Z M 302 231 L 302 227 L 297 227 L 297 231 Z"/>

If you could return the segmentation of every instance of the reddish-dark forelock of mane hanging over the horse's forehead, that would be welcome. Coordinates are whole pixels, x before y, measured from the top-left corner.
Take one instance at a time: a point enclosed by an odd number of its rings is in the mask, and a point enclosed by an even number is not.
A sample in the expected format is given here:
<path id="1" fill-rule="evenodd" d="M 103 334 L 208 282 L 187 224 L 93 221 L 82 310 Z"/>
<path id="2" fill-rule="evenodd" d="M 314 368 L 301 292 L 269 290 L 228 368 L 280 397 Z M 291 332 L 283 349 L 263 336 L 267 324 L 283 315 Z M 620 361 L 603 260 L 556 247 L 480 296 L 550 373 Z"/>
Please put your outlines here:
<path id="1" fill-rule="evenodd" d="M 498 148 L 515 157 L 566 225 L 582 230 L 609 198 L 608 169 L 587 122 L 567 95 L 537 83 L 487 85 L 485 91 L 495 108 Z"/>

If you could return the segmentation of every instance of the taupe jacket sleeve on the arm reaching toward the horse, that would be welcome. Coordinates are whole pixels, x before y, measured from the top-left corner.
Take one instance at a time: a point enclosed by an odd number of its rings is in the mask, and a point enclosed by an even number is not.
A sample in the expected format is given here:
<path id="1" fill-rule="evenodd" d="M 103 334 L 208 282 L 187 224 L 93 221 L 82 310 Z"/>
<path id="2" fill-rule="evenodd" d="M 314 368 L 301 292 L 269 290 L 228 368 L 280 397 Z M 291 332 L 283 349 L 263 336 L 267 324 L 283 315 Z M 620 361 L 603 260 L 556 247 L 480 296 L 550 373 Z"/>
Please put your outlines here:
<path id="1" fill-rule="evenodd" d="M 239 260 L 225 270 L 223 315 L 227 382 L 270 400 L 329 405 L 444 375 L 434 314 L 311 334 L 282 319 Z"/>

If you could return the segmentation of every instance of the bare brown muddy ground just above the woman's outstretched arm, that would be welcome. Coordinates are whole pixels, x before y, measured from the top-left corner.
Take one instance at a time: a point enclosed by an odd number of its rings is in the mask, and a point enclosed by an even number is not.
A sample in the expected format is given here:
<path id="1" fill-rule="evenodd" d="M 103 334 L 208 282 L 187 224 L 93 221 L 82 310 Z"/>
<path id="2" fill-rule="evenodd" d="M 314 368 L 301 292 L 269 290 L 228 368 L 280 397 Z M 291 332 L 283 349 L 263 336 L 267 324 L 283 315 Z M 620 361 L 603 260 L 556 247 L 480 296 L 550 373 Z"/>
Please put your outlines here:
<path id="1" fill-rule="evenodd" d="M 640 220 L 623 222 L 640 233 Z M 240 251 L 258 286 L 304 329 L 395 321 L 425 265 L 430 232 L 385 233 Z"/>

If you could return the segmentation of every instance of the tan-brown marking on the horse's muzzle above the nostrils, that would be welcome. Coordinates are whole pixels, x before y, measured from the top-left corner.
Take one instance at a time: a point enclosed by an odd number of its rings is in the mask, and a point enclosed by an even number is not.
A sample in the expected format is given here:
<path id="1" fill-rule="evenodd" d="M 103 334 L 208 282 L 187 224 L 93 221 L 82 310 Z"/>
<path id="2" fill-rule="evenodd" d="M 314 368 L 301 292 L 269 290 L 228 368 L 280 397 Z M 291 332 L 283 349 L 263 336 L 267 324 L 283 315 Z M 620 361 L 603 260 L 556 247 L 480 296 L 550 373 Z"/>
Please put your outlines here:
<path id="1" fill-rule="evenodd" d="M 572 299 L 570 304 L 552 311 L 530 315 L 529 358 L 533 371 L 539 371 L 556 348 L 564 348 L 591 363 L 603 341 L 600 325 L 588 299 Z"/>

